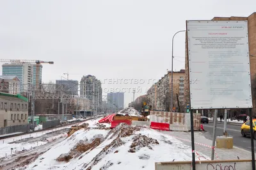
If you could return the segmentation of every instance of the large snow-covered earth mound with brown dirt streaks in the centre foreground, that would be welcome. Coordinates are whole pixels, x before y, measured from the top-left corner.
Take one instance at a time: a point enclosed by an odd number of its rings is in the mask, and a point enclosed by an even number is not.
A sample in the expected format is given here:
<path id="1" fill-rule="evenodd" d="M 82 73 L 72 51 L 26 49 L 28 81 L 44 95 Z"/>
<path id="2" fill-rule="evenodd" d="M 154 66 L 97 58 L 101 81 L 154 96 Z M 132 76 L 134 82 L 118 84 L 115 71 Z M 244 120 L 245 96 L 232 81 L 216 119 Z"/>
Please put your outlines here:
<path id="1" fill-rule="evenodd" d="M 191 160 L 191 148 L 147 127 L 90 121 L 40 155 L 26 169 L 153 170 L 154 162 Z M 202 158 L 201 158 L 202 160 Z"/>

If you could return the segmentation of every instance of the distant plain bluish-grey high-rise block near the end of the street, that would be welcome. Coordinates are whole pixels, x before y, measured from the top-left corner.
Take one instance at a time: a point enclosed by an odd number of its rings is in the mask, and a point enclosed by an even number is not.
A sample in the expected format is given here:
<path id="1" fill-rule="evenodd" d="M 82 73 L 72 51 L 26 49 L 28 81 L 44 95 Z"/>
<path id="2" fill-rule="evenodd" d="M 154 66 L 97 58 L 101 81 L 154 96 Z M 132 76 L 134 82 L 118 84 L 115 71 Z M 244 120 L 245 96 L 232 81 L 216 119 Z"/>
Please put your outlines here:
<path id="1" fill-rule="evenodd" d="M 109 109 L 124 109 L 124 92 L 108 93 L 107 103 Z"/>

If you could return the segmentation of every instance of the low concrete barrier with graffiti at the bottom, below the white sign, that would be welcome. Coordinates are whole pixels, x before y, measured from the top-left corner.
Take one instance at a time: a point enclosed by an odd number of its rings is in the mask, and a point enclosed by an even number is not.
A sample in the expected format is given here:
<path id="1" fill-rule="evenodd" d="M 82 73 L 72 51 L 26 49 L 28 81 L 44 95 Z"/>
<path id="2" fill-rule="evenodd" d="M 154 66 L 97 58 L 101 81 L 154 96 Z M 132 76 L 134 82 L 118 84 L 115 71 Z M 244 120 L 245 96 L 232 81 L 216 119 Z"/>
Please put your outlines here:
<path id="1" fill-rule="evenodd" d="M 191 161 L 156 162 L 155 170 L 191 170 Z M 252 169 L 252 160 L 202 160 L 196 161 L 196 170 Z"/>

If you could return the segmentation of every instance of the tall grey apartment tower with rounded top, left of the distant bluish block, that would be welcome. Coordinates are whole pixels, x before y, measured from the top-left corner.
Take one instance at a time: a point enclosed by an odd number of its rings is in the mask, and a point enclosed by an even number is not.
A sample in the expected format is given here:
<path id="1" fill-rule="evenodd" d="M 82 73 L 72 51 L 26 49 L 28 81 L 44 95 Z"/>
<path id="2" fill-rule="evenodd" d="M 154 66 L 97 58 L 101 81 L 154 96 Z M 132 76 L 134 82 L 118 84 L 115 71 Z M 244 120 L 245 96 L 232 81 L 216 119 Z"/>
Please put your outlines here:
<path id="1" fill-rule="evenodd" d="M 93 75 L 84 75 L 80 82 L 80 97 L 88 98 L 90 109 L 95 112 L 102 110 L 101 82 Z"/>

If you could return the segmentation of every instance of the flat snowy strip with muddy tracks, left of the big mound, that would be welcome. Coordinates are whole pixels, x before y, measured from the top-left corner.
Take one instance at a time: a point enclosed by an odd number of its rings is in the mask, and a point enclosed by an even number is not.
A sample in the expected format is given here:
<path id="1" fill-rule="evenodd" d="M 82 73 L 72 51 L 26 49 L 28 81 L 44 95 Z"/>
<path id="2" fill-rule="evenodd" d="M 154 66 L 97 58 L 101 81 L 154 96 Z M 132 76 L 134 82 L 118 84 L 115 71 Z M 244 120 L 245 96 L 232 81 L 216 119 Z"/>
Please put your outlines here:
<path id="1" fill-rule="evenodd" d="M 93 125 L 97 120 L 88 120 L 76 125 L 88 123 Z M 72 126 L 72 125 L 70 125 Z M 44 132 L 37 132 L 0 141 L 0 169 L 11 169 L 14 166 L 24 166 L 33 162 L 39 155 L 52 146 L 61 143 L 67 137 L 70 128 L 62 127 Z"/>

